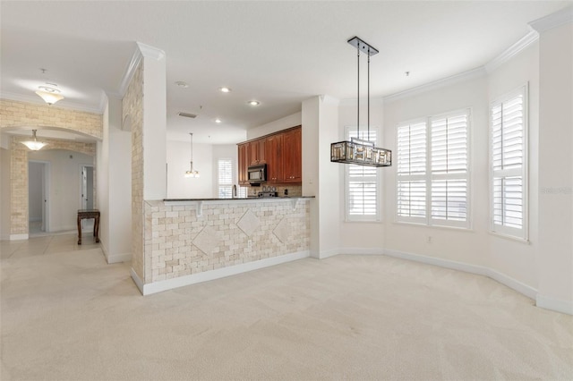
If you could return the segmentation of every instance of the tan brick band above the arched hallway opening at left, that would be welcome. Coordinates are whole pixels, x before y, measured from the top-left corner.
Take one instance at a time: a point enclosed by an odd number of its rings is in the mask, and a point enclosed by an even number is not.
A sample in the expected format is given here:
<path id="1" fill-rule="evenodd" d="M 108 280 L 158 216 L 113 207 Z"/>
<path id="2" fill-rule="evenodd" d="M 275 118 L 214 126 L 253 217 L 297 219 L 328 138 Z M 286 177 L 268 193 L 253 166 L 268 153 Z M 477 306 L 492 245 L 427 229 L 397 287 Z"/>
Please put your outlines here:
<path id="1" fill-rule="evenodd" d="M 0 99 L 0 127 L 57 127 L 103 137 L 103 115 Z"/>

